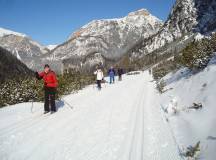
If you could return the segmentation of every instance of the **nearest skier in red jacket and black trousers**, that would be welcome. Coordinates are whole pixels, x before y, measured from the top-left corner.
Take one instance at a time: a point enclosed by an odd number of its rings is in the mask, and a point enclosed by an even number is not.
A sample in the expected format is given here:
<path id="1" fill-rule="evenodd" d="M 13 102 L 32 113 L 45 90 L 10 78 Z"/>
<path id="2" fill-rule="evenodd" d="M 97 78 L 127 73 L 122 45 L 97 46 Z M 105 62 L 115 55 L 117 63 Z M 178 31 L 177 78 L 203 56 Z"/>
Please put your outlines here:
<path id="1" fill-rule="evenodd" d="M 44 71 L 41 73 L 35 72 L 38 80 L 44 81 L 44 114 L 50 112 L 49 104 L 51 104 L 51 114 L 56 112 L 55 95 L 58 81 L 56 74 L 52 71 L 48 64 L 44 66 Z"/>

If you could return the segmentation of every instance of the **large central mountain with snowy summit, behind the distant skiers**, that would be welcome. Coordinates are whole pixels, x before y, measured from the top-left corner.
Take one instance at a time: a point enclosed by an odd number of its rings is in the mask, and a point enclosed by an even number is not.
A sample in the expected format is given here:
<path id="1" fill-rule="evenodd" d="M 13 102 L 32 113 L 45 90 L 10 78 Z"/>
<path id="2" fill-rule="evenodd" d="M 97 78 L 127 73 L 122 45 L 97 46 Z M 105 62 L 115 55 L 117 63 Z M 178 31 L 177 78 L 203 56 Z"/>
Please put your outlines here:
<path id="1" fill-rule="evenodd" d="M 100 63 L 106 65 L 155 34 L 162 24 L 146 9 L 120 19 L 95 20 L 69 36 L 65 43 L 52 51 L 52 56 L 63 60 L 66 68 L 91 68 Z"/>

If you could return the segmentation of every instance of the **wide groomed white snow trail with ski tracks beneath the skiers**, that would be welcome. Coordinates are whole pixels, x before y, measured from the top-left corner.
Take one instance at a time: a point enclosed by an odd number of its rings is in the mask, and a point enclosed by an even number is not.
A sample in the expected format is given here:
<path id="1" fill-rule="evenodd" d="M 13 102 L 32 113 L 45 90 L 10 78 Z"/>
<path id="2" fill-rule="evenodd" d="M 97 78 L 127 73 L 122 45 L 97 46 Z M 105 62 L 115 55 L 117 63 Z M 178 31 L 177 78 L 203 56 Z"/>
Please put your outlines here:
<path id="1" fill-rule="evenodd" d="M 150 75 L 124 78 L 66 96 L 73 110 L 65 104 L 41 115 L 41 103 L 34 113 L 30 103 L 0 109 L 0 159 L 180 160 Z"/>

